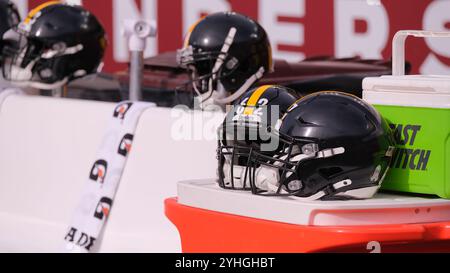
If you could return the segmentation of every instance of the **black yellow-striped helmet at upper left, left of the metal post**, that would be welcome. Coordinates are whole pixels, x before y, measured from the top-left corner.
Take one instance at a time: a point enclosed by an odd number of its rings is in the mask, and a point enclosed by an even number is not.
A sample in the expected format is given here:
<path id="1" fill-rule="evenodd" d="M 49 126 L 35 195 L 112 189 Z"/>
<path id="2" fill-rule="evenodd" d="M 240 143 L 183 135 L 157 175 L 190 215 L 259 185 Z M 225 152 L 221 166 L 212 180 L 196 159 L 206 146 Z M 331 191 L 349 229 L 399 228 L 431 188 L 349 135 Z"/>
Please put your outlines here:
<path id="1" fill-rule="evenodd" d="M 107 46 L 105 31 L 92 13 L 58 1 L 32 10 L 4 39 L 4 78 L 47 90 L 96 73 Z"/>

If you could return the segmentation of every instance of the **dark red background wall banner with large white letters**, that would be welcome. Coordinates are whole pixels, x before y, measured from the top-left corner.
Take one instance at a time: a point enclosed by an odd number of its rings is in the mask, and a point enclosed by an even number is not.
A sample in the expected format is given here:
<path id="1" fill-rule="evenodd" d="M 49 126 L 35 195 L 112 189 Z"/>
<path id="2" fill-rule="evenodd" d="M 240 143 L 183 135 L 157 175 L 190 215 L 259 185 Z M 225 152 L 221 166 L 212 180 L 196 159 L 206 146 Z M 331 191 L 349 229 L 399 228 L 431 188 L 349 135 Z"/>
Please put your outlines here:
<path id="1" fill-rule="evenodd" d="M 29 0 L 22 4 L 27 5 L 22 10 L 42 2 L 45 1 Z M 450 1 L 377 3 L 377 0 L 82 1 L 108 33 L 105 70 L 110 72 L 126 68 L 127 52 L 120 20 L 130 15 L 156 20 L 158 24 L 158 36 L 151 42 L 147 56 L 176 50 L 182 44 L 184 29 L 195 18 L 223 8 L 260 21 L 273 37 L 274 56 L 293 61 L 316 55 L 390 59 L 391 41 L 398 30 L 433 27 L 430 30 L 450 31 Z M 119 42 L 123 45 L 119 46 Z M 412 38 L 407 43 L 407 58 L 414 73 L 448 73 L 450 41 Z"/>

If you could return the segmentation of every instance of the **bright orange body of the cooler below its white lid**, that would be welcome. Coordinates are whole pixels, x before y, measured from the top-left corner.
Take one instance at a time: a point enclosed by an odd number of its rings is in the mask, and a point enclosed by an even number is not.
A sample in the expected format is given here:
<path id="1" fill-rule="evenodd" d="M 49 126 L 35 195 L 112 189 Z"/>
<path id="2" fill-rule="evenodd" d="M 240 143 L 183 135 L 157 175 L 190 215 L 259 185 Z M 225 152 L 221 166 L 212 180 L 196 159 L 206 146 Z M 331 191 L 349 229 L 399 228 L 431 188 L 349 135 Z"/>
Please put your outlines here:
<path id="1" fill-rule="evenodd" d="M 450 222 L 414 225 L 298 226 L 183 206 L 165 201 L 184 253 L 450 253 Z M 280 212 L 282 213 L 282 212 Z M 386 217 L 389 217 L 386 215 Z"/>

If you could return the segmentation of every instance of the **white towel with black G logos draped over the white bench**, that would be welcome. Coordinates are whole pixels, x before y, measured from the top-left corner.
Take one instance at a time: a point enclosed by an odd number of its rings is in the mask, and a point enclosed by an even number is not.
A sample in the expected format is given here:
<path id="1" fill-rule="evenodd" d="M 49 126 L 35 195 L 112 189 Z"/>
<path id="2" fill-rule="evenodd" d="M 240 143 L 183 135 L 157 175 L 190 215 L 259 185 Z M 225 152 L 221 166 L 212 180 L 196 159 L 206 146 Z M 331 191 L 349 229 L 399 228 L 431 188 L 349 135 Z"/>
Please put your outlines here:
<path id="1" fill-rule="evenodd" d="M 64 238 L 64 252 L 89 253 L 94 249 L 113 206 L 139 118 L 153 106 L 122 102 L 115 108 Z"/>

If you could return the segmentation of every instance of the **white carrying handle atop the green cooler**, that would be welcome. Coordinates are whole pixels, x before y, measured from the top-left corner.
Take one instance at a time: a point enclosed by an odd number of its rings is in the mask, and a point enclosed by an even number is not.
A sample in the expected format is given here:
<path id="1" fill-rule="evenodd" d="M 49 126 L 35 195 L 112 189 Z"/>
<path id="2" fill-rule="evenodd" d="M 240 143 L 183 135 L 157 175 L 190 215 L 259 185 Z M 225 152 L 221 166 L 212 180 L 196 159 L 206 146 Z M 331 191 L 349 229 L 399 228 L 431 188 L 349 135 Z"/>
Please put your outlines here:
<path id="1" fill-rule="evenodd" d="M 394 36 L 392 43 L 392 75 L 405 75 L 405 41 L 408 36 L 450 38 L 450 32 L 436 32 L 426 30 L 400 30 Z"/>

